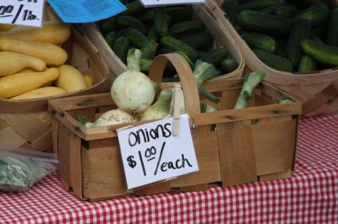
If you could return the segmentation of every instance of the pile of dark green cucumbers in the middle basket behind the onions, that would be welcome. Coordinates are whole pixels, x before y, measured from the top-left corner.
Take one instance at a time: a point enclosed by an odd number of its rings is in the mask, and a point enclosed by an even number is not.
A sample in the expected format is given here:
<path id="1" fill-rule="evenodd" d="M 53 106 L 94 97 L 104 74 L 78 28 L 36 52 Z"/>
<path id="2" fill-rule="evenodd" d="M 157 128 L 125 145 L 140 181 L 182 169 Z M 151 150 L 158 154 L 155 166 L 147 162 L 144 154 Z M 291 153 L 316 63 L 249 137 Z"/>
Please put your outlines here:
<path id="1" fill-rule="evenodd" d="M 147 73 L 156 55 L 180 53 L 194 69 L 196 60 L 213 64 L 222 74 L 236 70 L 236 60 L 227 49 L 214 48 L 213 35 L 201 20 L 192 18 L 192 8 L 184 5 L 144 8 L 139 1 L 125 3 L 127 10 L 96 25 L 116 55 L 125 62 L 130 48 L 142 51 L 141 71 Z M 176 74 L 168 63 L 164 77 Z"/>

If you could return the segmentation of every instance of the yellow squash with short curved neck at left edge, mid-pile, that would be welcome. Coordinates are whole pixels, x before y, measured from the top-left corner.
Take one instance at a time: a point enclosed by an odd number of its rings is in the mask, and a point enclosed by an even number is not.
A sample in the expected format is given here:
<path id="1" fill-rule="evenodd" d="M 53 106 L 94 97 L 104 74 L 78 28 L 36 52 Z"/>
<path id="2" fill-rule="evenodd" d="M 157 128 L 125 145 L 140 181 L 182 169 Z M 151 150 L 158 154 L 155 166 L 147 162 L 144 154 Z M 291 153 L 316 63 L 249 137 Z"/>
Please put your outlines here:
<path id="1" fill-rule="evenodd" d="M 46 63 L 39 59 L 22 53 L 0 51 L 0 77 L 19 72 L 24 68 L 31 68 L 36 72 L 42 72 Z"/>

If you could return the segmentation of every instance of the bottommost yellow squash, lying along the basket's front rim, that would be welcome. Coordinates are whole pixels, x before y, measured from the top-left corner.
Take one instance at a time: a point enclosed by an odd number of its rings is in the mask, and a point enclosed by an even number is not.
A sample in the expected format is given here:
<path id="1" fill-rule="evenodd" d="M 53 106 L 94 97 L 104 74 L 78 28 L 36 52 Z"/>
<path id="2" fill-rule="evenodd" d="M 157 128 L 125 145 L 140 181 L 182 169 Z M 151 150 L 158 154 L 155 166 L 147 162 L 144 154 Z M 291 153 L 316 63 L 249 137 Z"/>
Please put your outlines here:
<path id="1" fill-rule="evenodd" d="M 32 91 L 28 91 L 26 93 L 17 95 L 11 100 L 25 100 L 25 99 L 33 99 L 33 98 L 43 98 L 47 96 L 53 96 L 53 95 L 60 95 L 64 94 L 66 91 L 64 91 L 62 88 L 58 88 L 55 86 L 46 86 L 41 88 L 36 88 Z"/>

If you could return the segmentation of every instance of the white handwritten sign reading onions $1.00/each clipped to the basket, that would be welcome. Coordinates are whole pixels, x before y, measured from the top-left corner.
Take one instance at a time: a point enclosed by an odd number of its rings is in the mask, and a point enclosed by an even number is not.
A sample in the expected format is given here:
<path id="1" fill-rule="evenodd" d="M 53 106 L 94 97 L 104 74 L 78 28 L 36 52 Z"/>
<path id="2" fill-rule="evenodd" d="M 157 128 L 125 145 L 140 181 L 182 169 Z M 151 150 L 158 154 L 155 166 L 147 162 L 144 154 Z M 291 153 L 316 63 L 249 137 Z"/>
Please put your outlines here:
<path id="1" fill-rule="evenodd" d="M 173 135 L 173 117 L 118 131 L 127 188 L 199 171 L 187 114 L 180 134 Z"/>

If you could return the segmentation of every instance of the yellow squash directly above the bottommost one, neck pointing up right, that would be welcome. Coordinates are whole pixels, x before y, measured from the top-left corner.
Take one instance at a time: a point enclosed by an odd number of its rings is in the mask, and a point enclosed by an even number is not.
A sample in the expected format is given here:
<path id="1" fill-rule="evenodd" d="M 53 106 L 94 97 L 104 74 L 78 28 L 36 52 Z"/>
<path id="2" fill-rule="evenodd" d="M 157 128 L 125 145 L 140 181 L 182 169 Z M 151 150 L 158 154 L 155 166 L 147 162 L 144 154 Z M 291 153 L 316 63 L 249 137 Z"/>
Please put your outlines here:
<path id="1" fill-rule="evenodd" d="M 15 73 L 0 78 L 0 97 L 12 98 L 35 88 L 39 88 L 49 81 L 58 79 L 58 69 L 52 67 L 44 72 Z"/>

